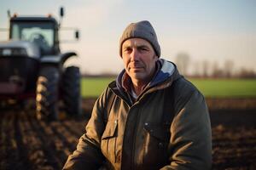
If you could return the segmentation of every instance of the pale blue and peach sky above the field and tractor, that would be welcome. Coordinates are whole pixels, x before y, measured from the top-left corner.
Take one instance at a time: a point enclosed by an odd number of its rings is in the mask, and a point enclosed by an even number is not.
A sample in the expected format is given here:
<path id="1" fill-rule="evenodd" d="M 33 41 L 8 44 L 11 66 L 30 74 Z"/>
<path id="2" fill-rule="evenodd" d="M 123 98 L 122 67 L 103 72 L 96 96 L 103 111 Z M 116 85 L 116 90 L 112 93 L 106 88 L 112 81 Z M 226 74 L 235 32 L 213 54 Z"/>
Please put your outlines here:
<path id="1" fill-rule="evenodd" d="M 149 20 L 161 47 L 161 58 L 174 61 L 177 54 L 189 54 L 189 71 L 207 60 L 224 66 L 234 62 L 235 70 L 256 71 L 255 0 L 0 0 L 0 28 L 8 28 L 7 10 L 18 15 L 52 14 L 62 27 L 79 28 L 78 42 L 61 43 L 61 51 L 75 51 L 79 65 L 90 74 L 118 73 L 119 37 L 131 22 Z M 69 35 L 69 36 L 68 36 Z M 70 39 L 61 31 L 61 39 Z M 0 41 L 7 36 L 0 33 Z"/>

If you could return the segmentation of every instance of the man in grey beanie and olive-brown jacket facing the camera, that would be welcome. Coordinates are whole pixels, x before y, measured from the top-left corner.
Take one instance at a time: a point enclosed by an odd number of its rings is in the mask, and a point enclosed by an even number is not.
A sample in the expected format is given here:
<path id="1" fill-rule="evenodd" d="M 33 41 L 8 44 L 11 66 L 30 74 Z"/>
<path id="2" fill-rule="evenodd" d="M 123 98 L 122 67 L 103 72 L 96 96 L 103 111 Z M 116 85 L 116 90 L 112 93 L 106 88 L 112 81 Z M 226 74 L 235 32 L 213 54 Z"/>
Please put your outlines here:
<path id="1" fill-rule="evenodd" d="M 210 169 L 212 134 L 202 94 L 160 57 L 154 28 L 126 27 L 125 69 L 96 100 L 64 169 Z"/>

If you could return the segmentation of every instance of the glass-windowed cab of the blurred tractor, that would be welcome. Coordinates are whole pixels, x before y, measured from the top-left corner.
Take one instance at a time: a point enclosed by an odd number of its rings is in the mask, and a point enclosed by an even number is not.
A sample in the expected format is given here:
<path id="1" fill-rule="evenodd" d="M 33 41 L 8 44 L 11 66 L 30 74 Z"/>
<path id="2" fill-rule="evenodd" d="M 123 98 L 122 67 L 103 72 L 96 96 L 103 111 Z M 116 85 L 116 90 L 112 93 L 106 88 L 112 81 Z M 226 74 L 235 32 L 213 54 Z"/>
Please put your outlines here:
<path id="1" fill-rule="evenodd" d="M 52 17 L 17 17 L 10 19 L 10 40 L 34 42 L 41 56 L 60 53 L 58 24 Z"/>

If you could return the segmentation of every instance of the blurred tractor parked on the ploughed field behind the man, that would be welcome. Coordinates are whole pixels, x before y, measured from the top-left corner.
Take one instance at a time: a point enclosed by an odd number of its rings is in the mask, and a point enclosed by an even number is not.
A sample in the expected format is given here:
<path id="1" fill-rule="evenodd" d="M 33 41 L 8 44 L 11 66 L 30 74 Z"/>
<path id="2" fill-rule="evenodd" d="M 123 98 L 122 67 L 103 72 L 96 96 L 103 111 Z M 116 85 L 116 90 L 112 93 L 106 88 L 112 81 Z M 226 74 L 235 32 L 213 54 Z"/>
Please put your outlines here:
<path id="1" fill-rule="evenodd" d="M 60 29 L 50 14 L 9 14 L 9 40 L 0 42 L 0 102 L 32 99 L 39 120 L 57 120 L 60 105 L 67 115 L 81 114 L 79 67 L 64 65 L 77 54 L 61 53 Z"/>

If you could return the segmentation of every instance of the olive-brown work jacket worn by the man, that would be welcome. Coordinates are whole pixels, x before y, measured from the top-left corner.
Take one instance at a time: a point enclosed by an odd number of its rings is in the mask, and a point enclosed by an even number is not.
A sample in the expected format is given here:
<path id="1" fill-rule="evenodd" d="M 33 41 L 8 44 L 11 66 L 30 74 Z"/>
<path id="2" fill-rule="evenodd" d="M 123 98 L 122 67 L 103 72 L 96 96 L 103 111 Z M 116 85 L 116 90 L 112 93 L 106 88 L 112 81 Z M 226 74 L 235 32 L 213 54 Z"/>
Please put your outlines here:
<path id="1" fill-rule="evenodd" d="M 210 169 L 205 99 L 174 68 L 133 104 L 118 83 L 110 83 L 63 169 Z"/>

